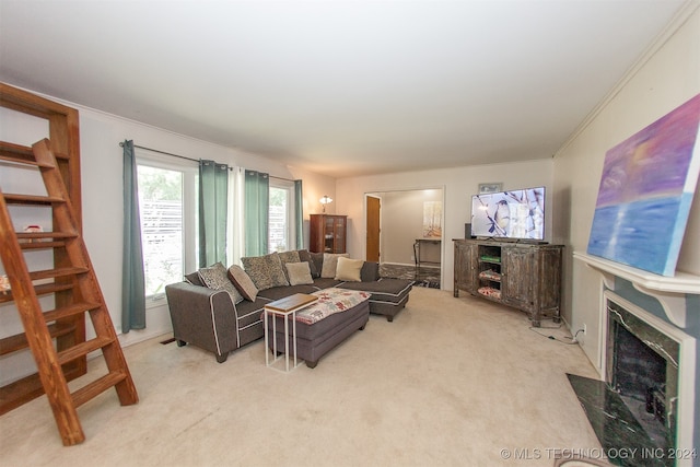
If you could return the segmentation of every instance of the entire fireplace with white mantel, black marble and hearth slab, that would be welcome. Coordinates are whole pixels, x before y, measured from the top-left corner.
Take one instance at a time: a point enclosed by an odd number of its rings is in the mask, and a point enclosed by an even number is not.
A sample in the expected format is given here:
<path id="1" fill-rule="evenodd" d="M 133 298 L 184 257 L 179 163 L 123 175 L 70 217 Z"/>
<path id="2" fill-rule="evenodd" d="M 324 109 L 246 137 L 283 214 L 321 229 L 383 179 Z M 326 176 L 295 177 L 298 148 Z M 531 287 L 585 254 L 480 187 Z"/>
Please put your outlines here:
<path id="1" fill-rule="evenodd" d="M 700 275 L 677 270 L 665 277 L 587 254 L 573 256 L 602 279 L 602 381 L 569 375 L 598 441 L 606 453 L 629 454 L 610 458 L 616 465 L 692 466 L 700 429 L 695 420 L 697 338 L 686 332 L 697 335 L 699 310 L 692 304 L 700 295 Z"/>

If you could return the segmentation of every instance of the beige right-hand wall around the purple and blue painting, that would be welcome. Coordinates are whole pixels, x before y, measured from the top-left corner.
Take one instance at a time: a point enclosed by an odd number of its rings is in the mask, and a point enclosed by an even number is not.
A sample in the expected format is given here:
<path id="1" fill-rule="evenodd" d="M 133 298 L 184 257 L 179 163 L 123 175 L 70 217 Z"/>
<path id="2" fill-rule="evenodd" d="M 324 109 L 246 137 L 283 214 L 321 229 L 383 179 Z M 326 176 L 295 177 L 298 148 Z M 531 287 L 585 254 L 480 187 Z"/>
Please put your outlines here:
<path id="1" fill-rule="evenodd" d="M 586 250 L 606 151 L 700 92 L 700 11 L 696 10 L 677 32 L 669 34 L 555 157 L 555 236 L 569 245 L 564 318 L 572 329 L 586 326 L 583 348 L 598 370 L 600 279 L 574 261 L 572 253 Z M 700 275 L 698 238 L 697 190 L 678 269 Z"/>

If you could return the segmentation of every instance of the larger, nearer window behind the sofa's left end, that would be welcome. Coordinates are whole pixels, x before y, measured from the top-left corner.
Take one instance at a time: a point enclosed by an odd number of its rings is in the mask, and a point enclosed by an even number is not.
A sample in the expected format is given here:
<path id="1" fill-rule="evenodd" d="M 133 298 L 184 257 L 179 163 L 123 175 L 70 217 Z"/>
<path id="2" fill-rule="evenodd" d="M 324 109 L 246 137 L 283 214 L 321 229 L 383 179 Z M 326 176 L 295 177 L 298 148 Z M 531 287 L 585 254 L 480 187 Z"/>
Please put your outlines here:
<path id="1" fill-rule="evenodd" d="M 197 170 L 137 157 L 145 296 L 160 299 L 196 268 Z"/>

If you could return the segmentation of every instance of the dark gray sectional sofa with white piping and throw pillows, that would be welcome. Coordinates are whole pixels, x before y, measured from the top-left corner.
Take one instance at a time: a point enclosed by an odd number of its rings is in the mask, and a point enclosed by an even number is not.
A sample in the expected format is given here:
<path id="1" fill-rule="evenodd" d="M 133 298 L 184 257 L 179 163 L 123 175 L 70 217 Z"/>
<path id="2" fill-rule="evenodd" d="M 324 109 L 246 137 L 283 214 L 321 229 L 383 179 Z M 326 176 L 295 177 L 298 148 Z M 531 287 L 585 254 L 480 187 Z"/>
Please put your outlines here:
<path id="1" fill-rule="evenodd" d="M 230 283 L 221 279 L 219 264 L 215 265 L 219 282 L 209 276 L 215 269 L 211 267 L 187 275 L 183 282 L 166 285 L 178 346 L 197 346 L 214 353 L 217 361 L 223 363 L 231 351 L 265 336 L 261 314 L 266 303 L 332 287 L 370 292 L 370 313 L 384 315 L 392 322 L 406 306 L 412 281 L 381 278 L 378 264 L 370 261 L 362 261 L 361 268 L 355 262 L 359 276 L 352 280 L 329 277 L 335 272 L 331 262 L 350 262 L 339 259 L 342 256 L 347 255 L 313 254 L 303 249 L 275 253 L 243 258 L 244 268 L 232 266 L 228 270 Z M 282 265 L 283 278 L 278 261 Z M 294 271 L 306 268 L 311 277 L 302 275 L 300 280 Z"/>

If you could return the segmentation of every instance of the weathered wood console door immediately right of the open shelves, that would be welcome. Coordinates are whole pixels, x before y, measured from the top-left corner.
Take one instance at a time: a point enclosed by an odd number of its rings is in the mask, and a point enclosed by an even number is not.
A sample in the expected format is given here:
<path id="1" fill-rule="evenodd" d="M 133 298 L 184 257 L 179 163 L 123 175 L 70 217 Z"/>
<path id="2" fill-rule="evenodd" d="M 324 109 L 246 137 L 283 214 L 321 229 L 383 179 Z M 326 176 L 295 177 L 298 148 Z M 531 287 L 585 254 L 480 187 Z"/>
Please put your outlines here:
<path id="1" fill-rule="evenodd" d="M 535 254 L 527 247 L 503 247 L 501 249 L 501 300 L 525 312 L 534 308 L 533 283 L 537 265 Z"/>

